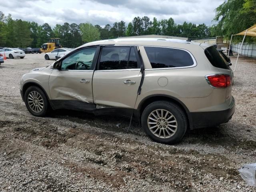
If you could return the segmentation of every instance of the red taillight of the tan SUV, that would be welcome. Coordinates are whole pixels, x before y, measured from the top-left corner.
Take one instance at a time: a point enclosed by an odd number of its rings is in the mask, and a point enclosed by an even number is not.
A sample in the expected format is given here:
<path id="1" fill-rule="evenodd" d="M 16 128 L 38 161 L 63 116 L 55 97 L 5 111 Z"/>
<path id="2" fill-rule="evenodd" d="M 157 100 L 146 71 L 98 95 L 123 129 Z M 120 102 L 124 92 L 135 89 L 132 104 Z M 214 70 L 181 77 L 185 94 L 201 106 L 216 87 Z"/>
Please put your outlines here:
<path id="1" fill-rule="evenodd" d="M 225 88 L 231 85 L 231 77 L 229 75 L 209 75 L 206 76 L 208 84 L 216 88 Z"/>

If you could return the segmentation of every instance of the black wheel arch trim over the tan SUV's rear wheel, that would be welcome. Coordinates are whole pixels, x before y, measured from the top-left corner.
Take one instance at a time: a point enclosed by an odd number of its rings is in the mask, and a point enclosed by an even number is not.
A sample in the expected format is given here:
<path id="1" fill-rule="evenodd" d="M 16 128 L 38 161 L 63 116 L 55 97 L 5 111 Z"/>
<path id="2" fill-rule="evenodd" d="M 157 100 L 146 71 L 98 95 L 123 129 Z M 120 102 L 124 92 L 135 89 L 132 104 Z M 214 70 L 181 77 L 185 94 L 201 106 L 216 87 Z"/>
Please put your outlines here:
<path id="1" fill-rule="evenodd" d="M 147 96 L 146 98 L 144 98 L 142 101 L 140 101 L 140 103 L 138 104 L 138 108 L 137 110 L 139 111 L 139 120 L 140 117 L 142 115 L 142 112 L 144 111 L 144 109 L 146 108 L 146 106 L 148 106 L 150 103 L 155 102 L 155 101 L 168 101 L 168 102 L 172 102 L 176 105 L 178 105 L 183 112 L 186 115 L 186 118 L 188 120 L 188 127 L 190 127 L 190 112 L 188 110 L 188 108 L 186 107 L 186 105 L 180 101 L 178 98 L 169 96 L 169 95 L 164 95 L 164 94 L 154 94 L 154 95 L 150 95 Z"/>

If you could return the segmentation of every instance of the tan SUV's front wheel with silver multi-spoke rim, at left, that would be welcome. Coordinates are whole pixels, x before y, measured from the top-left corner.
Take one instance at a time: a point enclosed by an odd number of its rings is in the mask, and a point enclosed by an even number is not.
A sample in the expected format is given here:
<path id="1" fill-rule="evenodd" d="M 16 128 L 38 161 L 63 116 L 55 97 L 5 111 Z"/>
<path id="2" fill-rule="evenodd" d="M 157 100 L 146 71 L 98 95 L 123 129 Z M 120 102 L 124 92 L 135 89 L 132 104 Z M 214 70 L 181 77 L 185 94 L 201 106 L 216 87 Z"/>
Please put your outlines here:
<path id="1" fill-rule="evenodd" d="M 46 116 L 50 109 L 45 93 L 37 86 L 31 86 L 26 90 L 24 101 L 28 111 L 34 116 Z"/>

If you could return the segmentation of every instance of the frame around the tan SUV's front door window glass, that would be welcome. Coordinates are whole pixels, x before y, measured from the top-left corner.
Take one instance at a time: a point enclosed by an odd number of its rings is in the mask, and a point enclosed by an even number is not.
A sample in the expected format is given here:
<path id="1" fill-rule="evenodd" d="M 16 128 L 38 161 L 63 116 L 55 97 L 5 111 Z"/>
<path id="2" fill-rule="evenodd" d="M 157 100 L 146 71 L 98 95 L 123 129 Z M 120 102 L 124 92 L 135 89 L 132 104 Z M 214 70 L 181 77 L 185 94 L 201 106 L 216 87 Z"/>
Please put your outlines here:
<path id="1" fill-rule="evenodd" d="M 90 48 L 96 48 L 96 52 L 95 52 L 94 57 L 93 57 L 93 60 L 92 60 L 91 69 L 87 69 L 87 70 L 62 70 L 62 69 L 61 69 L 62 61 L 63 61 L 64 59 L 66 59 L 68 56 L 70 56 L 70 55 L 72 55 L 72 54 L 74 54 L 74 53 L 76 53 L 76 52 L 78 52 L 78 51 L 80 51 L 80 50 L 90 49 Z M 95 66 L 96 66 L 96 62 L 97 62 L 98 56 L 99 56 L 99 50 L 100 50 L 100 47 L 99 47 L 99 46 L 88 46 L 88 47 L 82 47 L 82 48 L 80 48 L 80 49 L 77 49 L 77 50 L 75 50 L 74 52 L 73 52 L 73 51 L 69 52 L 68 54 L 66 54 L 66 56 L 65 56 L 64 58 L 62 58 L 62 60 L 60 60 L 61 64 L 60 64 L 60 69 L 59 69 L 59 71 L 77 71 L 77 72 L 94 71 L 94 68 L 95 68 Z M 71 53 L 71 54 L 70 54 L 70 53 Z"/>

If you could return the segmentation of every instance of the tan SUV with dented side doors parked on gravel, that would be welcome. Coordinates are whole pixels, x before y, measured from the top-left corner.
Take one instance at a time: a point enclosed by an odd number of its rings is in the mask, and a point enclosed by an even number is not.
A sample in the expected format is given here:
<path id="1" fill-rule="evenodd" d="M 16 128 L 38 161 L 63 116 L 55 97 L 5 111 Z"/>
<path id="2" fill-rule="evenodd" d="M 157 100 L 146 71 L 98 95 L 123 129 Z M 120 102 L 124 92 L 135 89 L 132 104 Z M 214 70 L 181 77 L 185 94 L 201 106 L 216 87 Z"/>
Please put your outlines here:
<path id="1" fill-rule="evenodd" d="M 71 109 L 140 120 L 161 143 L 186 129 L 218 126 L 235 110 L 233 73 L 214 46 L 186 40 L 127 38 L 84 44 L 22 76 L 28 111 Z"/>

